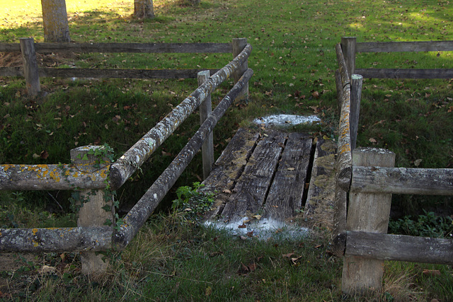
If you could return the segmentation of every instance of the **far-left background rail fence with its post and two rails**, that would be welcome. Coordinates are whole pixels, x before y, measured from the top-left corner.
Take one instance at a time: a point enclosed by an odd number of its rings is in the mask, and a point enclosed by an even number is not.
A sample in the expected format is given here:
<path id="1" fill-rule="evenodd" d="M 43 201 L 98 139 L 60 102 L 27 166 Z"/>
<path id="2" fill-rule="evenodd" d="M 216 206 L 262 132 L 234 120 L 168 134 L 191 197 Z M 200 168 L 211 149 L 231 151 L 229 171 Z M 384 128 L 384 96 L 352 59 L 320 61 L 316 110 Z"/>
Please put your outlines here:
<path id="1" fill-rule="evenodd" d="M 237 53 L 232 43 L 35 43 L 21 38 L 19 43 L 0 43 L 0 52 L 21 52 L 23 67 L 0 67 L 0 76 L 23 76 L 29 95 L 40 92 L 40 77 L 188 79 L 204 69 L 79 69 L 38 67 L 36 53 Z M 218 69 L 210 69 L 211 73 Z"/>

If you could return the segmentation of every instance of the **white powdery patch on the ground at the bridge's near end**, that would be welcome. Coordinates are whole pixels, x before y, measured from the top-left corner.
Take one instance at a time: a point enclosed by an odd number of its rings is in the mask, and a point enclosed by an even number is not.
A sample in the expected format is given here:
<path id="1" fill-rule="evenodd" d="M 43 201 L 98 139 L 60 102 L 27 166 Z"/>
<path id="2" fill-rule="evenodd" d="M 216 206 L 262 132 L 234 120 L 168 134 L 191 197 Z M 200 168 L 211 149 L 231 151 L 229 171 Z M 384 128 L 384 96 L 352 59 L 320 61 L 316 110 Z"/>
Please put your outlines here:
<path id="1" fill-rule="evenodd" d="M 273 219 L 254 219 L 248 221 L 247 217 L 241 221 L 224 223 L 222 221 L 206 221 L 206 226 L 226 230 L 233 236 L 241 236 L 241 238 L 258 238 L 260 240 L 268 240 L 269 238 L 277 240 L 298 240 L 309 236 L 309 228 L 302 228 L 297 224 L 287 224 L 282 221 Z M 246 226 L 241 227 L 239 226 Z"/>

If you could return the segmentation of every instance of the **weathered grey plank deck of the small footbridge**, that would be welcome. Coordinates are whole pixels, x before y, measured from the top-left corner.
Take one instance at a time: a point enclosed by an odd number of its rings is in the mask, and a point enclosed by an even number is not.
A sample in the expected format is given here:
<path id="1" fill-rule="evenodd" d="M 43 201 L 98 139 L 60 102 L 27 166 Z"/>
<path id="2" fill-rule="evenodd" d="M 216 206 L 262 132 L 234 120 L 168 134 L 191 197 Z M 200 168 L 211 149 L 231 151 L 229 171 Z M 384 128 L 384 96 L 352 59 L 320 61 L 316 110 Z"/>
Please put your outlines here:
<path id="1" fill-rule="evenodd" d="M 204 190 L 217 201 L 208 214 L 225 223 L 301 216 L 331 227 L 336 144 L 306 134 L 239 129 L 215 163 Z"/>

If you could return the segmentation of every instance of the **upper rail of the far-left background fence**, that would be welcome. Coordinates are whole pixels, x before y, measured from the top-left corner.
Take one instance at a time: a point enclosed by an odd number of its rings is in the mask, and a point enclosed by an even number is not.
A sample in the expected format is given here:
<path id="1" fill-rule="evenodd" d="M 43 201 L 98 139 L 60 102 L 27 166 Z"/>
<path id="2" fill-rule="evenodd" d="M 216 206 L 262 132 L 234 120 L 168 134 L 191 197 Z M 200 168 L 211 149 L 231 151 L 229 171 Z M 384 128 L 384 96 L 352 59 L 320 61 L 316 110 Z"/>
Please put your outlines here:
<path id="1" fill-rule="evenodd" d="M 14 49 L 6 45 L 6 49 Z M 36 52 L 232 52 L 231 43 L 35 43 Z"/>

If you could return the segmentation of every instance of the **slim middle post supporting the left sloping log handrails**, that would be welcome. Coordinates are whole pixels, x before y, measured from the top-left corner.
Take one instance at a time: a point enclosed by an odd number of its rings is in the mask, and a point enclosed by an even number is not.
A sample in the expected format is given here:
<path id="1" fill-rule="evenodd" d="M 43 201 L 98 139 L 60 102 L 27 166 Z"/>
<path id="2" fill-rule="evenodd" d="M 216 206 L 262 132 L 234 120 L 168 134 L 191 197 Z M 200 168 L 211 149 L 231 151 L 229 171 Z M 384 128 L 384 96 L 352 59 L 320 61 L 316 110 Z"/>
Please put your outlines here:
<path id="1" fill-rule="evenodd" d="M 210 79 L 210 71 L 200 71 L 197 74 L 198 79 L 198 86 L 205 83 L 208 79 Z M 203 124 L 207 119 L 208 115 L 212 112 L 212 104 L 211 104 L 211 94 L 207 95 L 203 103 L 200 104 L 200 124 Z M 212 165 L 214 164 L 214 135 L 212 132 L 207 137 L 206 141 L 203 143 L 201 147 L 202 158 L 203 158 L 203 178 L 206 179 L 212 169 Z"/>

